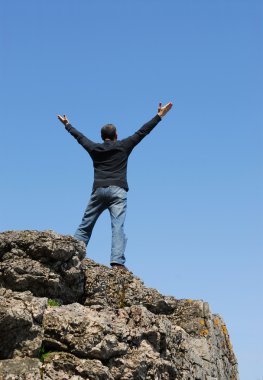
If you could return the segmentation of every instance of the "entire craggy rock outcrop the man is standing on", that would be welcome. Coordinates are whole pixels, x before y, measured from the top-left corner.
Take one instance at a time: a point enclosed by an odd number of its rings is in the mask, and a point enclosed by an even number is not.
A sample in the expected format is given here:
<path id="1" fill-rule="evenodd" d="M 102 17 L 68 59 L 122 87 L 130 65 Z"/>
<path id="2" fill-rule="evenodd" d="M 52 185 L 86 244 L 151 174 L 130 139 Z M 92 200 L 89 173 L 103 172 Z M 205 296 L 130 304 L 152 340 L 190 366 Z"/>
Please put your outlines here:
<path id="1" fill-rule="evenodd" d="M 51 231 L 0 234 L 0 380 L 238 379 L 206 302 L 163 296 L 84 256 Z"/>

